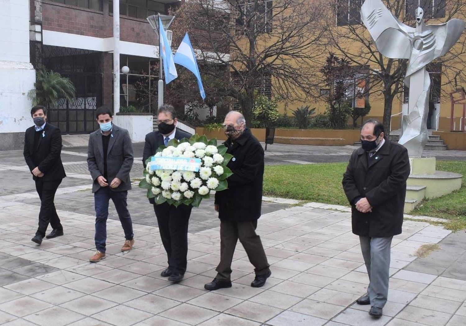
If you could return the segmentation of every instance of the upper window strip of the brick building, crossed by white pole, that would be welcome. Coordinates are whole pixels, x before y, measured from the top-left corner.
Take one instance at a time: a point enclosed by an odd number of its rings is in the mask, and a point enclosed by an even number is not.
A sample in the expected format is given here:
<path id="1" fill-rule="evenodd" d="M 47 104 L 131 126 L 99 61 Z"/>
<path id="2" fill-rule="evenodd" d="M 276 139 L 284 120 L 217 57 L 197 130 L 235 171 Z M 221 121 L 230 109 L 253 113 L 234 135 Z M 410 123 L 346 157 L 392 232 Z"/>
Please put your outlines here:
<path id="1" fill-rule="evenodd" d="M 113 1 L 109 1 L 109 12 L 113 13 Z M 120 15 L 146 19 L 157 13 L 165 14 L 165 5 L 153 0 L 120 0 Z"/>

